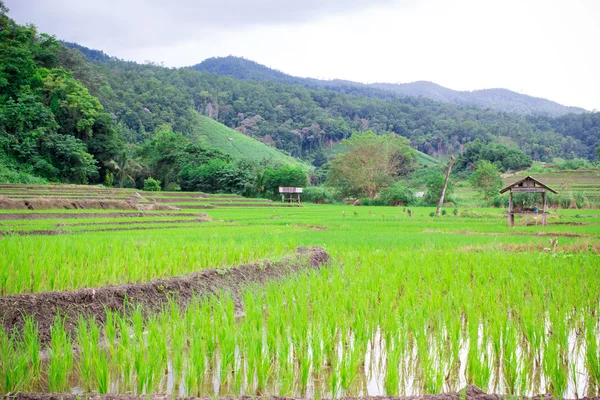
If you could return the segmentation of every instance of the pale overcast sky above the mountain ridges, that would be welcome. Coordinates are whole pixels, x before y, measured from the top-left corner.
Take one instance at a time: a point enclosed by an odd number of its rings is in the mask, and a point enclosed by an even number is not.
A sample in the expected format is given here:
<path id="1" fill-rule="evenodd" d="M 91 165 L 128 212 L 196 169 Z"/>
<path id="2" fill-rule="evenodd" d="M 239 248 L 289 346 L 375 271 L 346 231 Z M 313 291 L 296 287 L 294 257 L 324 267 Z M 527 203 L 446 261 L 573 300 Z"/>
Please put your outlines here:
<path id="1" fill-rule="evenodd" d="M 600 110 L 599 0 L 5 0 L 119 58 L 242 56 L 291 75 L 507 88 Z"/>

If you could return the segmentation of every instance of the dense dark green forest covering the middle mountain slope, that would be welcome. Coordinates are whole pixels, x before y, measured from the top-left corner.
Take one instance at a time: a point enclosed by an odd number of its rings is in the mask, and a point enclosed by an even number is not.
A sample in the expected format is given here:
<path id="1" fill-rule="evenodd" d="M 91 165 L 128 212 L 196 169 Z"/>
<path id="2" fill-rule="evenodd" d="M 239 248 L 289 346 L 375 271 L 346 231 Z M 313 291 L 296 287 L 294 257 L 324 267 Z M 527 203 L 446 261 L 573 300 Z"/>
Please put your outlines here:
<path id="1" fill-rule="evenodd" d="M 466 143 L 480 139 L 509 141 L 533 160 L 593 159 L 600 144 L 600 113 L 522 116 L 424 98 L 380 98 L 360 87 L 348 87 L 348 93 L 339 89 L 343 85 L 307 89 L 277 79 L 234 79 L 189 68 L 141 65 L 70 46 L 98 65 L 111 88 L 100 94 L 101 102 L 115 113 L 132 141 L 143 140 L 164 122 L 191 135 L 196 111 L 310 160 L 321 147 L 368 129 L 395 132 L 432 156 L 461 152 Z"/>

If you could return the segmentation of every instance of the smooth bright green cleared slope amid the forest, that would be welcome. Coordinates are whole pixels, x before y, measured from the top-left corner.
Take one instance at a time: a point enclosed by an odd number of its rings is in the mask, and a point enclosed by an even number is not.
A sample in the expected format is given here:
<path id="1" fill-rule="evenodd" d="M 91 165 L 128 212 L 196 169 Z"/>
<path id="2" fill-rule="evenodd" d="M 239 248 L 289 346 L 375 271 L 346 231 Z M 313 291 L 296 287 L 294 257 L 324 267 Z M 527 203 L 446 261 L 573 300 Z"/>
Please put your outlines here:
<path id="1" fill-rule="evenodd" d="M 305 169 L 309 165 L 282 153 L 274 147 L 266 145 L 241 132 L 226 127 L 208 117 L 200 117 L 198 134 L 207 146 L 221 150 L 235 160 L 268 160 L 279 164 L 299 166 Z"/>

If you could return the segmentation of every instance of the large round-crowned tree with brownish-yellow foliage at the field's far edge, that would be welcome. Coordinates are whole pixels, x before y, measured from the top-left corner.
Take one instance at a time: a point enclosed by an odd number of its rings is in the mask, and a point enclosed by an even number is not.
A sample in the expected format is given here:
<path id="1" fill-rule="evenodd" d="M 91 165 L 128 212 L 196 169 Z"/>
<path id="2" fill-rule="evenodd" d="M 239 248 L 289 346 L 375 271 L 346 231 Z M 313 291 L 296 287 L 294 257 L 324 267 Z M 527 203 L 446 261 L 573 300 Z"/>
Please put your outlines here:
<path id="1" fill-rule="evenodd" d="M 328 180 L 344 195 L 367 195 L 373 200 L 381 189 L 413 168 L 414 151 L 407 139 L 394 133 L 355 133 L 342 144 L 345 152 L 330 162 Z"/>

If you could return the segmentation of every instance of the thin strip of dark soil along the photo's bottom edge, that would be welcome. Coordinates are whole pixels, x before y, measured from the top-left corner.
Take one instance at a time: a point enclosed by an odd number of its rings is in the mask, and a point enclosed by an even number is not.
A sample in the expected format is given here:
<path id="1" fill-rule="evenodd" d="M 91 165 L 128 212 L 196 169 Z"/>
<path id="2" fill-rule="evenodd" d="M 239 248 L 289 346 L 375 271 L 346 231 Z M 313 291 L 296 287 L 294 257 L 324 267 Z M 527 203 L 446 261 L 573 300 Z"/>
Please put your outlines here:
<path id="1" fill-rule="evenodd" d="M 11 400 L 79 400 L 81 396 L 77 396 L 75 394 L 55 394 L 55 393 L 12 393 L 4 396 L 5 399 Z M 114 395 L 114 394 L 105 394 L 105 395 L 97 395 L 90 394 L 86 395 L 86 398 L 89 400 L 194 400 L 194 399 L 208 399 L 209 397 L 179 397 L 179 396 L 166 396 L 166 395 L 144 395 L 144 396 L 134 396 L 134 395 Z M 294 399 L 293 397 L 279 397 L 279 396 L 263 396 L 263 397 L 255 397 L 255 396 L 224 396 L 219 397 L 220 399 L 243 399 L 250 400 L 256 398 L 262 399 L 271 399 L 271 400 L 284 400 L 284 399 Z M 441 394 L 426 394 L 422 396 L 363 396 L 363 397 L 342 397 L 342 399 L 351 400 L 351 399 L 378 399 L 378 400 L 506 400 L 508 396 L 500 395 L 500 394 L 488 394 L 483 390 L 479 389 L 477 386 L 469 385 L 464 394 L 460 394 L 458 392 L 448 392 Z M 534 397 L 515 397 L 519 400 L 552 400 L 552 396 L 543 395 L 543 396 L 534 396 Z M 580 397 L 579 400 L 598 400 L 600 397 Z"/>

